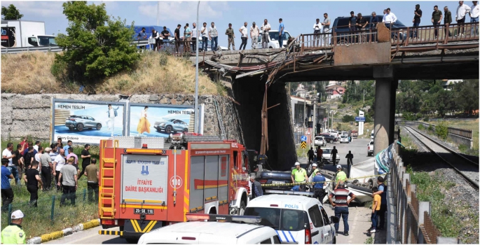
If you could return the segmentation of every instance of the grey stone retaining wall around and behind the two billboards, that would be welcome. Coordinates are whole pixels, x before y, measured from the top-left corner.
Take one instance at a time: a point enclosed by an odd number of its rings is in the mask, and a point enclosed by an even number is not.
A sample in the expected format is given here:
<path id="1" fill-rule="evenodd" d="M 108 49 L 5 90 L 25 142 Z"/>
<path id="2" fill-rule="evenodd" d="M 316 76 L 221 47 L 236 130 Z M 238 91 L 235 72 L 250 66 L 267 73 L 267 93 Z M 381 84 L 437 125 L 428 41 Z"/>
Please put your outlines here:
<path id="1" fill-rule="evenodd" d="M 1 139 L 32 136 L 34 139 L 49 140 L 52 97 L 118 102 L 118 96 L 113 94 L 1 94 Z M 203 133 L 220 136 L 214 99 L 217 99 L 226 138 L 236 139 L 243 144 L 238 113 L 235 112 L 231 99 L 226 97 L 212 95 L 198 97 L 198 104 L 205 104 Z M 135 94 L 130 98 L 130 103 L 193 105 L 194 98 L 193 95 L 183 94 Z"/>

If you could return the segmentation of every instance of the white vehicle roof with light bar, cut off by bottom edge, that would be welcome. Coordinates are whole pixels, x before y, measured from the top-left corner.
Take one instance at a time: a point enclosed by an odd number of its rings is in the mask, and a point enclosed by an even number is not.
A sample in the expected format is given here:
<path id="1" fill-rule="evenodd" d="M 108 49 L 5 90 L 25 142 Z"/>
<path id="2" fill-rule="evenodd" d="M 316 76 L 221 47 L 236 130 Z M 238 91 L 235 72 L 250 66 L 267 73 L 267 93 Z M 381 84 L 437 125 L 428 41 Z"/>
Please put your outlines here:
<path id="1" fill-rule="evenodd" d="M 190 222 L 145 233 L 138 244 L 280 244 L 273 228 L 259 225 L 260 217 L 186 214 L 186 219 Z"/>

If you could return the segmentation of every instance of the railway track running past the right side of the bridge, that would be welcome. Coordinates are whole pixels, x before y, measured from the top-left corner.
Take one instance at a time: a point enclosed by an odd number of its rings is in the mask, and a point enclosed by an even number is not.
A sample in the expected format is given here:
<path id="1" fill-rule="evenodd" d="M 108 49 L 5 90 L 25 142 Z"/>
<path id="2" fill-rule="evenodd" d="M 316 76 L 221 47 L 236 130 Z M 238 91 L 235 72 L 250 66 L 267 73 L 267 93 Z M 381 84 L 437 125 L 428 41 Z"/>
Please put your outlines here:
<path id="1" fill-rule="evenodd" d="M 427 135 L 422 132 L 414 130 L 412 127 L 403 126 L 405 129 L 416 137 L 418 141 L 422 142 L 428 150 L 437 155 L 441 160 L 443 160 L 447 165 L 450 165 L 455 169 L 458 174 L 460 174 L 465 180 L 467 180 L 472 187 L 476 190 L 479 189 L 479 163 L 473 162 L 465 158 L 464 156 L 452 151 L 446 146 L 438 143 L 434 139 L 427 137 Z"/>

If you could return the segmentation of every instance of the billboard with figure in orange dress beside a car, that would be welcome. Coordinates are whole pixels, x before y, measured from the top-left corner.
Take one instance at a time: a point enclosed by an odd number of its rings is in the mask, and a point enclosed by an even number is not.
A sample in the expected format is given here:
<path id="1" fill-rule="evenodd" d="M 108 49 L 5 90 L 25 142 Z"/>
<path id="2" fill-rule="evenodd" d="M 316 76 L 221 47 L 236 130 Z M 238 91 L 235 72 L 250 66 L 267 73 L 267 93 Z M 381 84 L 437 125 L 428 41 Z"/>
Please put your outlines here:
<path id="1" fill-rule="evenodd" d="M 193 106 L 170 104 L 130 104 L 128 135 L 168 137 L 179 132 L 193 132 Z"/>

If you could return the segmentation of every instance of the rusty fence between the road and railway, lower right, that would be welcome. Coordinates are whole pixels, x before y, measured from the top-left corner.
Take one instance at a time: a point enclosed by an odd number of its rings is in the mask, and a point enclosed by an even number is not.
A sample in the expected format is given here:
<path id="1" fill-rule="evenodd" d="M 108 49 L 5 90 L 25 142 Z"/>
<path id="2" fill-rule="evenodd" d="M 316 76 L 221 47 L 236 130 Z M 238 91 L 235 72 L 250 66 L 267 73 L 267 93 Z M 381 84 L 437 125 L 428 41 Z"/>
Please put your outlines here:
<path id="1" fill-rule="evenodd" d="M 458 238 L 441 237 L 430 216 L 430 202 L 419 202 L 416 185 L 411 184 L 404 162 L 399 156 L 399 144 L 392 150 L 393 160 L 388 179 L 388 240 L 387 243 L 437 244 L 450 241 L 458 244 Z M 390 198 L 391 197 L 391 198 Z"/>

